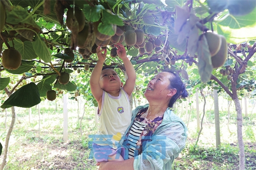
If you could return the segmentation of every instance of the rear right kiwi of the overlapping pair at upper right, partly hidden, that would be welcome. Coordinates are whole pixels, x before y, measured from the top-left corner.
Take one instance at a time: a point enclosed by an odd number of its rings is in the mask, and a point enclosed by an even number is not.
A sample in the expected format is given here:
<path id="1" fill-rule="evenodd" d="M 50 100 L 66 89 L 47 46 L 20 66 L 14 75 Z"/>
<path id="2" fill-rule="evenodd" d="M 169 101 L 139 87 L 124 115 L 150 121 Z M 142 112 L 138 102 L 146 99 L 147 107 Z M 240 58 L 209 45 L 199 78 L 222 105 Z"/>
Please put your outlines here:
<path id="1" fill-rule="evenodd" d="M 219 35 L 221 37 L 221 48 L 218 51 L 217 54 L 212 56 L 212 67 L 218 68 L 224 65 L 224 62 L 227 59 L 227 41 L 226 38 L 222 35 Z"/>

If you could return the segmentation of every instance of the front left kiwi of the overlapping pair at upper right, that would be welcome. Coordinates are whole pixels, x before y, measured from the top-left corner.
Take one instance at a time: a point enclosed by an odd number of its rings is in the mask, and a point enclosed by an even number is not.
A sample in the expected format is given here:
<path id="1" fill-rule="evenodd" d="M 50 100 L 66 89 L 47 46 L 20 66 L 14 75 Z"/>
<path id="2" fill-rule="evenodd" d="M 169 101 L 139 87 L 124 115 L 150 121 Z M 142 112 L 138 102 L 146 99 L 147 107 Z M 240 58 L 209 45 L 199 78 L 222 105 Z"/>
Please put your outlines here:
<path id="1" fill-rule="evenodd" d="M 206 32 L 204 35 L 209 46 L 210 54 L 214 56 L 221 48 L 221 37 L 213 32 Z"/>

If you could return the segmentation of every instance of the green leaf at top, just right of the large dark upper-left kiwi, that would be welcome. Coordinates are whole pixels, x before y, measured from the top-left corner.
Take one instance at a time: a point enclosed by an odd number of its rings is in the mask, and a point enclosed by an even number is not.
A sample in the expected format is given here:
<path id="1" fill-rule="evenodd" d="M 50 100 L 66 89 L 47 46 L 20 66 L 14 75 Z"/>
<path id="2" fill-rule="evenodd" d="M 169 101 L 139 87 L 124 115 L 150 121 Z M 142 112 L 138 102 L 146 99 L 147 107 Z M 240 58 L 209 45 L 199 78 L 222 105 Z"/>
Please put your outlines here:
<path id="1" fill-rule="evenodd" d="M 89 6 L 88 4 L 84 4 L 84 16 L 90 22 L 99 21 L 101 16 L 101 11 L 104 9 L 102 5 L 97 6 Z"/>

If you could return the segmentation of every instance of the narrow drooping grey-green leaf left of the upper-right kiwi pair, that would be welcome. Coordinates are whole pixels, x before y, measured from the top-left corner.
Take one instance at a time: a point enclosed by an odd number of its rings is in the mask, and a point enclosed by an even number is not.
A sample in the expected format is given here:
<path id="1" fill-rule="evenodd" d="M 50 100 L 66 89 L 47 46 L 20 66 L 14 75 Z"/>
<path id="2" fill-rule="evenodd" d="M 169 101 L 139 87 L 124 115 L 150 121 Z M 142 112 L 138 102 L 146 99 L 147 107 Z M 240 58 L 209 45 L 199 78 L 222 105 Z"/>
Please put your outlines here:
<path id="1" fill-rule="evenodd" d="M 208 82 L 212 75 L 212 60 L 209 46 L 204 34 L 198 42 L 198 72 L 202 82 Z"/>

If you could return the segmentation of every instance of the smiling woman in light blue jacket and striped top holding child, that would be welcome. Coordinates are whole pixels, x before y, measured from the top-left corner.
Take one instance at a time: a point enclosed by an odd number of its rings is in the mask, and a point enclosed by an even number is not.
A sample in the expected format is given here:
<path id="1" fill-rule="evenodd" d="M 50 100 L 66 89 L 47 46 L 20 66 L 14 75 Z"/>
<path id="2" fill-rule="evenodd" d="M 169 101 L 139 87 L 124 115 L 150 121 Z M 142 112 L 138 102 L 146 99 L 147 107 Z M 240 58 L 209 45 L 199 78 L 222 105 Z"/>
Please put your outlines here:
<path id="1" fill-rule="evenodd" d="M 148 105 L 133 111 L 131 126 L 121 139 L 124 161 L 99 162 L 99 170 L 171 170 L 185 147 L 187 128 L 171 110 L 175 101 L 187 97 L 179 74 L 165 70 L 148 83 Z"/>

